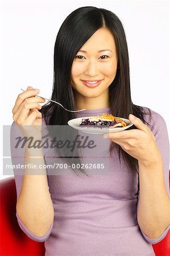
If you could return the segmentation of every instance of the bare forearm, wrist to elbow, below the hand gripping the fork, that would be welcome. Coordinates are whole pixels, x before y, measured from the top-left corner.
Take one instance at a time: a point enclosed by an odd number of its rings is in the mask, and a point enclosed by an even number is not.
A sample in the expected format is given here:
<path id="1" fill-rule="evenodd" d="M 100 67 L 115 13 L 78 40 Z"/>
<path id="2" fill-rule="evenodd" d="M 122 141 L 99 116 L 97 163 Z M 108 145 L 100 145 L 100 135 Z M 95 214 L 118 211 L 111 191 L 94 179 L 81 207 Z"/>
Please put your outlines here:
<path id="1" fill-rule="evenodd" d="M 24 164 L 44 165 L 43 152 L 36 148 L 26 148 Z M 22 188 L 16 203 L 16 213 L 28 230 L 36 236 L 44 236 L 49 230 L 54 216 L 53 204 L 49 193 L 47 174 L 45 169 L 40 169 L 40 175 L 32 175 L 37 169 L 25 168 Z M 31 174 L 31 175 L 29 175 Z"/>

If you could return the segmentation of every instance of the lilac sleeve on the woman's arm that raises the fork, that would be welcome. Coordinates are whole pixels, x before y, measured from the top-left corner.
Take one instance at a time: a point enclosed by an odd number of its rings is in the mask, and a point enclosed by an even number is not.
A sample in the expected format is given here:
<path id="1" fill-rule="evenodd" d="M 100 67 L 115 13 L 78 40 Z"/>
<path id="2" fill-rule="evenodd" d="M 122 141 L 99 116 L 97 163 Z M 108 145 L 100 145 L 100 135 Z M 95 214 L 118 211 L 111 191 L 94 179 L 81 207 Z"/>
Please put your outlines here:
<path id="1" fill-rule="evenodd" d="M 19 136 L 23 137 L 21 131 L 19 130 L 18 125 L 16 125 L 16 123 L 13 122 L 11 125 L 11 130 L 10 130 L 10 146 L 11 146 L 11 161 L 14 166 L 17 166 L 18 164 L 24 164 L 25 147 L 23 147 L 23 148 L 15 147 L 16 138 Z M 18 197 L 20 195 L 20 191 L 22 188 L 22 181 L 23 181 L 22 169 L 14 168 L 13 171 L 14 171 L 14 177 L 15 177 L 16 195 L 17 195 L 17 200 L 18 200 Z M 16 218 L 17 218 L 18 224 L 19 224 L 20 228 L 23 230 L 23 232 L 34 241 L 43 242 L 43 241 L 47 240 L 47 238 L 51 234 L 53 222 L 52 222 L 52 225 L 49 228 L 48 232 L 44 236 L 36 236 L 34 233 L 32 233 L 30 230 L 28 230 L 26 228 L 26 226 L 20 220 L 17 213 L 16 213 Z"/>

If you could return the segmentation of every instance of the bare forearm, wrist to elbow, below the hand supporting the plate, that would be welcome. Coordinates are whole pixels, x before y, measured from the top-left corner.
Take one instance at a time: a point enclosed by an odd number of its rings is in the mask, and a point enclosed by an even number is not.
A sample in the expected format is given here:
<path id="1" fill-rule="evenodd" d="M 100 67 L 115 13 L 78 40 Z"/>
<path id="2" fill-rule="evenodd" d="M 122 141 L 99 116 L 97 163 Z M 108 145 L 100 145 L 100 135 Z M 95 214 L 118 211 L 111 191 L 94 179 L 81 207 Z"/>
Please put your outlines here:
<path id="1" fill-rule="evenodd" d="M 147 237 L 156 239 L 170 224 L 170 200 L 161 156 L 151 164 L 139 162 L 139 188 L 138 223 Z"/>

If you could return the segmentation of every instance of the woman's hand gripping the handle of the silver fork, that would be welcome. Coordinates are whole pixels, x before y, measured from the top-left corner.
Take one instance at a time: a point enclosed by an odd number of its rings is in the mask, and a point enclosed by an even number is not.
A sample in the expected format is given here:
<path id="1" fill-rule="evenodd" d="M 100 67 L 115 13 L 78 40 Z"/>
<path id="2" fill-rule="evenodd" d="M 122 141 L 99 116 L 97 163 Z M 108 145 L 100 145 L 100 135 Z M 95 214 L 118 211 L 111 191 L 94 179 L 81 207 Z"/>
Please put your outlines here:
<path id="1" fill-rule="evenodd" d="M 39 103 L 45 102 L 45 99 L 35 97 L 38 93 L 39 90 L 28 86 L 26 92 L 18 95 L 13 108 L 13 119 L 26 137 L 39 137 L 41 134 L 42 113 L 39 110 L 42 106 Z"/>

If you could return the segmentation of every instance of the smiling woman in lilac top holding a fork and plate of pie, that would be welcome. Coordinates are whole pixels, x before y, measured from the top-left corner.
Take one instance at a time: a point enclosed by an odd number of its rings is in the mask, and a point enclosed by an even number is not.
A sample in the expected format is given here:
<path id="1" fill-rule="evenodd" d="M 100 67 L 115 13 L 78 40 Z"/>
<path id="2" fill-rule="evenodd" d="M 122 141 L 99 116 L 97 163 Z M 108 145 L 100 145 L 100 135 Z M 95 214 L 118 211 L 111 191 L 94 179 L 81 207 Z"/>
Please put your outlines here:
<path id="1" fill-rule="evenodd" d="M 109 175 L 48 175 L 45 168 L 42 175 L 29 175 L 25 168 L 22 176 L 14 170 L 20 228 L 33 240 L 45 241 L 47 256 L 155 255 L 151 244 L 170 228 L 167 126 L 158 113 L 132 104 L 126 36 L 118 17 L 81 7 L 57 34 L 51 98 L 67 109 L 86 110 L 67 112 L 52 102 L 42 108 L 44 99 L 34 97 L 38 93 L 28 86 L 16 99 L 13 164 L 19 162 L 14 158 L 16 125 L 29 136 L 24 125 L 67 125 L 76 117 L 111 113 L 134 126 L 109 134 Z M 42 139 L 41 129 L 35 131 L 34 139 Z M 17 149 L 24 164 L 35 158 L 36 164 L 48 164 L 51 152 Z"/>

